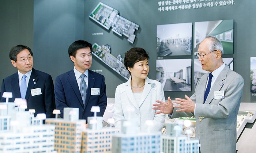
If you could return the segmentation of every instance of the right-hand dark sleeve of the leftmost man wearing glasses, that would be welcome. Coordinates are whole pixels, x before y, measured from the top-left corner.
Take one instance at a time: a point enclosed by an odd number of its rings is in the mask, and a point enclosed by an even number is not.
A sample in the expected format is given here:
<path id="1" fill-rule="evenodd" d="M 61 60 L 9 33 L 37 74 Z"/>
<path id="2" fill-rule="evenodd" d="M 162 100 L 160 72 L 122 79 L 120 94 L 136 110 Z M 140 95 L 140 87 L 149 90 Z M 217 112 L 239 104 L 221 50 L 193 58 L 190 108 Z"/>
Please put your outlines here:
<path id="1" fill-rule="evenodd" d="M 47 118 L 54 118 L 54 114 L 52 114 L 55 107 L 55 100 L 54 100 L 54 85 L 52 81 L 52 77 L 49 75 L 46 77 L 45 82 L 45 110 L 46 110 L 46 117 Z"/>

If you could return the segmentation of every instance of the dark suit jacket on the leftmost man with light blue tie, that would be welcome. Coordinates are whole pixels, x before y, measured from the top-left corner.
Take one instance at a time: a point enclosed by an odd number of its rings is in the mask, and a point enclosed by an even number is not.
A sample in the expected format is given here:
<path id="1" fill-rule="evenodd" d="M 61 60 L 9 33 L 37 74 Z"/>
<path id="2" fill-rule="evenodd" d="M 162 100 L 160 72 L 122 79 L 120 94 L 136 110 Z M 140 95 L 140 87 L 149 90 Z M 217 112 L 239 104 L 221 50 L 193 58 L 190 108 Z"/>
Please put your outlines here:
<path id="1" fill-rule="evenodd" d="M 41 95 L 31 95 L 31 89 L 41 88 Z M 12 92 L 12 98 L 9 102 L 14 102 L 15 98 L 21 98 L 19 88 L 18 72 L 6 77 L 1 85 L 1 102 L 5 102 L 2 97 L 4 92 Z M 54 86 L 52 77 L 39 70 L 32 69 L 25 99 L 27 100 L 27 109 L 35 109 L 35 116 L 38 113 L 45 113 L 47 118 L 53 118 L 52 114 L 55 109 L 54 103 Z"/>

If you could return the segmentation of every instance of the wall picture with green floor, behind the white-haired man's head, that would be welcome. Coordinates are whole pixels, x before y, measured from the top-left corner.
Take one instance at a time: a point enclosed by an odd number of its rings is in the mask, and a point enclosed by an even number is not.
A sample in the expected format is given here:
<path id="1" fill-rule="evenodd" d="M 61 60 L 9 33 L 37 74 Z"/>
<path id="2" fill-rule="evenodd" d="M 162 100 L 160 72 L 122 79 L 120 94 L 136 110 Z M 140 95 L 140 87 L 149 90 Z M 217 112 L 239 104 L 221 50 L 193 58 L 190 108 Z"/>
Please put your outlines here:
<path id="1" fill-rule="evenodd" d="M 195 58 L 198 58 L 196 56 L 196 53 L 198 53 L 197 50 L 200 42 L 202 42 L 207 35 L 214 35 L 221 41 L 223 45 L 224 54 L 233 54 L 234 20 L 195 22 Z"/>

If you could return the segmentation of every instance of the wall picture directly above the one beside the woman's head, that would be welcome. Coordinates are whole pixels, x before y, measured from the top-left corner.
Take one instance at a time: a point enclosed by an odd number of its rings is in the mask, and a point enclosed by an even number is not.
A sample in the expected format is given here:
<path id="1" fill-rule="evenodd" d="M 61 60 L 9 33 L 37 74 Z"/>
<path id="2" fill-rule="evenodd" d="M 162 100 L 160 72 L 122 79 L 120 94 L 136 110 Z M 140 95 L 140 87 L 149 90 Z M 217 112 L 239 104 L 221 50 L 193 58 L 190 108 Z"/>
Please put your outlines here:
<path id="1" fill-rule="evenodd" d="M 192 23 L 157 25 L 157 56 L 191 55 Z"/>

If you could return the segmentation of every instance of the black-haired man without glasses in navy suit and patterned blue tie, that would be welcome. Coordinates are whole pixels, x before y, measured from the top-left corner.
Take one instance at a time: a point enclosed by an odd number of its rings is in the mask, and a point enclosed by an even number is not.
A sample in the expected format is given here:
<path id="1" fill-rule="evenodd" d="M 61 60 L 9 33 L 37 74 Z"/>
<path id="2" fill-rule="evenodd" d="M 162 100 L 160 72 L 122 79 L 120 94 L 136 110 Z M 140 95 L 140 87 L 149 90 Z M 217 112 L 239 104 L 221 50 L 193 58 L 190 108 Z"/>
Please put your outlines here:
<path id="1" fill-rule="evenodd" d="M 99 106 L 98 116 L 103 116 L 107 106 L 105 78 L 89 70 L 92 62 L 92 45 L 78 40 L 68 48 L 68 55 L 74 68 L 61 74 L 55 80 L 55 103 L 63 118 L 63 108 L 79 108 L 79 119 L 93 116 L 92 106 Z"/>

